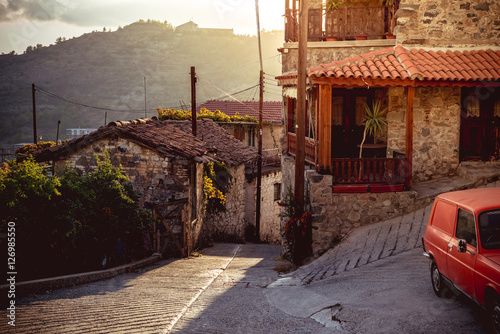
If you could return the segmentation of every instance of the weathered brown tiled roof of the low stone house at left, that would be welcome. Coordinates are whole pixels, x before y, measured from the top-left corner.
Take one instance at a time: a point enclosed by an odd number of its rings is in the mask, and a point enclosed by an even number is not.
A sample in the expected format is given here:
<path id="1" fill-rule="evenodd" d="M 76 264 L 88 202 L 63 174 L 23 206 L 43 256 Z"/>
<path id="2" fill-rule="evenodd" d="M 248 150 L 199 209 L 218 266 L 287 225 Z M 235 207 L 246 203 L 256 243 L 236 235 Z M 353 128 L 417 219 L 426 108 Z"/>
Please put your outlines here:
<path id="1" fill-rule="evenodd" d="M 191 134 L 190 121 L 140 119 L 111 122 L 106 127 L 66 144 L 33 153 L 37 161 L 60 159 L 99 140 L 120 137 L 158 152 L 177 154 L 198 162 L 223 161 L 235 166 L 252 160 L 256 154 L 211 120 L 197 121 L 197 137 Z"/>

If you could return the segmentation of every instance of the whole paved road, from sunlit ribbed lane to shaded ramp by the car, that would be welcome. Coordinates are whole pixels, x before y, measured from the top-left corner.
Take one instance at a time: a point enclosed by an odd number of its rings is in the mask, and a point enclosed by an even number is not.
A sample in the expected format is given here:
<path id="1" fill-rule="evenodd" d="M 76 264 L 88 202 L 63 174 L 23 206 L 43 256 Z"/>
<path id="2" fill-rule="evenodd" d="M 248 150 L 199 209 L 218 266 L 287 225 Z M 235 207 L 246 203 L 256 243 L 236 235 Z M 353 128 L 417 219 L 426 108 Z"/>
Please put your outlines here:
<path id="1" fill-rule="evenodd" d="M 3 309 L 0 333 L 483 333 L 481 310 L 432 291 L 420 244 L 429 210 L 358 229 L 282 278 L 279 246 L 218 244 L 19 299 L 16 327 Z"/>

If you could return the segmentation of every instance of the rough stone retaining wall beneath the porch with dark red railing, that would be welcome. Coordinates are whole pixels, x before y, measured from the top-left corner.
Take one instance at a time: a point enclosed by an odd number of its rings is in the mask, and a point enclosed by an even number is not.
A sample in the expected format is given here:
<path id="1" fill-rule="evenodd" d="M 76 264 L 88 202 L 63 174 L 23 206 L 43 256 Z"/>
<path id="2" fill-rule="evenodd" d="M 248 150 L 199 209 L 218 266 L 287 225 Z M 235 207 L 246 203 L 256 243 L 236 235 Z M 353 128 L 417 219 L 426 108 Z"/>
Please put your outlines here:
<path id="1" fill-rule="evenodd" d="M 335 194 L 332 176 L 306 172 L 313 217 L 313 255 L 335 246 L 351 230 L 415 211 L 417 193 Z"/>

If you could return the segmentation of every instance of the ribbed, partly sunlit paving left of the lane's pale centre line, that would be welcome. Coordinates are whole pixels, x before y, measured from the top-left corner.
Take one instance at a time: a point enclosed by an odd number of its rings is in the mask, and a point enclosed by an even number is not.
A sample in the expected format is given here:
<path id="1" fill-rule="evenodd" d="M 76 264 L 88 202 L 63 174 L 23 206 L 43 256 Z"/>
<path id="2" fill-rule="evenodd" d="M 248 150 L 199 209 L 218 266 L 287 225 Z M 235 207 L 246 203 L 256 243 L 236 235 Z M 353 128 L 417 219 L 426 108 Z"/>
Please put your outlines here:
<path id="1" fill-rule="evenodd" d="M 240 247 L 221 244 L 202 257 L 164 260 L 112 279 L 20 298 L 15 328 L 7 325 L 3 308 L 0 333 L 166 333 Z"/>

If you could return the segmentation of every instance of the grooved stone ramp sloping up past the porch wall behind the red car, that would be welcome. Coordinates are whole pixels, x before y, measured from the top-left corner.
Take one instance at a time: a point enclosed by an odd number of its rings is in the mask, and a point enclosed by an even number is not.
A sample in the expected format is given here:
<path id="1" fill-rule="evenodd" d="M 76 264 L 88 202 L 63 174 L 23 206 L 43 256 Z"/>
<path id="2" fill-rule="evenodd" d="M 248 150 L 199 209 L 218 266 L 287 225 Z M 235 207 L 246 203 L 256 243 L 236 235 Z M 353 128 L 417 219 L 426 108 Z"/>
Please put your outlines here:
<path id="1" fill-rule="evenodd" d="M 430 204 L 405 216 L 353 230 L 335 248 L 312 263 L 284 275 L 273 286 L 310 284 L 392 255 L 421 248 L 432 202 L 438 194 L 469 188 L 500 187 L 498 164 L 462 166 L 460 174 L 415 185 L 413 190 L 417 191 L 418 198 Z"/>

